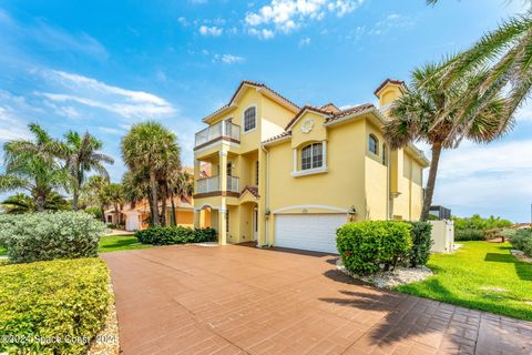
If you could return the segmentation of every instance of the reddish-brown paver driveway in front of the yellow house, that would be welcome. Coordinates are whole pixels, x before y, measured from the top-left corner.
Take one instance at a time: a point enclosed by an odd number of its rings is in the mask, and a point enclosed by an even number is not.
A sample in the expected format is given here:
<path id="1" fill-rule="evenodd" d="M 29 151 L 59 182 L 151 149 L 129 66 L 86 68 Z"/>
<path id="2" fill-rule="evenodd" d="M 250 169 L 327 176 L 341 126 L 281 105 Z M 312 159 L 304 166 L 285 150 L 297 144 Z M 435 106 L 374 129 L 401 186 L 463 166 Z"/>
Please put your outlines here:
<path id="1" fill-rule="evenodd" d="M 355 283 L 335 256 L 104 254 L 123 354 L 531 354 L 532 324 Z"/>

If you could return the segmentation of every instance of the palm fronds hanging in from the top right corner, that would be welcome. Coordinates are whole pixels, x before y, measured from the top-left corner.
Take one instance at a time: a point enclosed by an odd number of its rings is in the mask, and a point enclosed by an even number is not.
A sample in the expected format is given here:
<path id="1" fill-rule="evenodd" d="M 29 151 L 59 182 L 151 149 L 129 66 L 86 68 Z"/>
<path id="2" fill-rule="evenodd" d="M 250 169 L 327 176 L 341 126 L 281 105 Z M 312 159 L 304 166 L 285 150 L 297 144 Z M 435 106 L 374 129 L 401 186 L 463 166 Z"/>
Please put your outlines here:
<path id="1" fill-rule="evenodd" d="M 438 0 L 427 0 L 434 4 Z M 529 1 L 530 2 L 530 1 Z M 488 68 L 488 74 L 479 80 L 463 97 L 458 98 L 463 110 L 482 109 L 475 104 L 478 94 L 495 95 L 501 88 L 509 92 L 509 100 L 501 121 L 512 119 L 515 111 L 532 93 L 532 9 L 515 16 L 484 34 L 462 54 L 444 65 L 440 77 L 446 87 L 458 78 Z M 503 123 L 504 124 L 504 123 Z"/>

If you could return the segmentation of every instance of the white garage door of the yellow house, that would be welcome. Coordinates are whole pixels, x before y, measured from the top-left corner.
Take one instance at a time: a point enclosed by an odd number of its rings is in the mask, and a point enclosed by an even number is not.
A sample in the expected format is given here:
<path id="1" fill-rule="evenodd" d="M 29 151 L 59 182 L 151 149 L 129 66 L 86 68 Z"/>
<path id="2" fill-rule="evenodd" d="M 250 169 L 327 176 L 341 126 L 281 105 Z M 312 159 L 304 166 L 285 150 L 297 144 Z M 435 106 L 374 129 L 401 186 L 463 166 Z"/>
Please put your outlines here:
<path id="1" fill-rule="evenodd" d="M 337 254 L 336 230 L 346 223 L 345 214 L 279 214 L 275 245 Z"/>

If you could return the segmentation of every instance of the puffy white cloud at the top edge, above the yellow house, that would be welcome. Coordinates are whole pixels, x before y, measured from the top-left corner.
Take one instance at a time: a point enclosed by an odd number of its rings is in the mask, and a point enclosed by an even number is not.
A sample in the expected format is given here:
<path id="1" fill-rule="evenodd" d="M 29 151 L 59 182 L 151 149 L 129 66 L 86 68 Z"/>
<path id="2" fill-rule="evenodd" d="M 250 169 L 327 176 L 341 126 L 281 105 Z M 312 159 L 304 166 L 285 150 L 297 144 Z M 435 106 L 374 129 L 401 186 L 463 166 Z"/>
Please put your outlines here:
<path id="1" fill-rule="evenodd" d="M 342 17 L 362 2 L 364 0 L 272 0 L 257 11 L 248 12 L 244 22 L 249 34 L 267 39 L 275 32 L 289 33 L 304 23 L 319 21 L 327 14 Z"/>

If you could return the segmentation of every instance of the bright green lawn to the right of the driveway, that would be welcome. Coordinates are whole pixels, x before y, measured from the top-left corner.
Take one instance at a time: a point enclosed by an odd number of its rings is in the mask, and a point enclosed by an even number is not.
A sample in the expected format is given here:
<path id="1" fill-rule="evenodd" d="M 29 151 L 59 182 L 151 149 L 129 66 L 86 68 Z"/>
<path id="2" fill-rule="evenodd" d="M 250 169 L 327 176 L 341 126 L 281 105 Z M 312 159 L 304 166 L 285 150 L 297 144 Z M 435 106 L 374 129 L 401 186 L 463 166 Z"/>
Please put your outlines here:
<path id="1" fill-rule="evenodd" d="M 437 275 L 397 291 L 532 320 L 532 264 L 511 255 L 509 243 L 460 242 L 454 254 L 431 255 L 427 266 Z"/>

